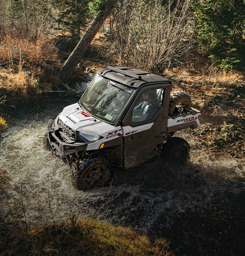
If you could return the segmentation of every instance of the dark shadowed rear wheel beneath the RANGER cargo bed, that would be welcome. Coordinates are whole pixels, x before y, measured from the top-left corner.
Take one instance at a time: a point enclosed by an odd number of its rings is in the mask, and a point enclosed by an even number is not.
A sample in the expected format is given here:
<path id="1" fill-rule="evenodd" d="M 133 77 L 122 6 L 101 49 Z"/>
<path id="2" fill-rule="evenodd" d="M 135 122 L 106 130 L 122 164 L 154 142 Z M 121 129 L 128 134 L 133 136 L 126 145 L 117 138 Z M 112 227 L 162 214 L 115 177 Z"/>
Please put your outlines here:
<path id="1" fill-rule="evenodd" d="M 179 137 L 170 137 L 163 144 L 161 156 L 164 161 L 173 164 L 183 164 L 189 157 L 190 145 Z"/>

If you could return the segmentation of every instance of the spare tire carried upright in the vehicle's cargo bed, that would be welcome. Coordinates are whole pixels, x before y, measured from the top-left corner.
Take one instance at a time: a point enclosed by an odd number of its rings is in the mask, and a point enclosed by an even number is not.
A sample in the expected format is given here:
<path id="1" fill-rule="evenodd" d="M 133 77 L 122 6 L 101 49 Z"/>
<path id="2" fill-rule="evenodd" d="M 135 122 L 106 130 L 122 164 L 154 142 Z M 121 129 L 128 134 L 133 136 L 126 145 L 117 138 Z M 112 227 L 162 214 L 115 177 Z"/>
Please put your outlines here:
<path id="1" fill-rule="evenodd" d="M 189 94 L 175 91 L 170 94 L 168 115 L 181 114 L 191 109 L 191 97 Z"/>

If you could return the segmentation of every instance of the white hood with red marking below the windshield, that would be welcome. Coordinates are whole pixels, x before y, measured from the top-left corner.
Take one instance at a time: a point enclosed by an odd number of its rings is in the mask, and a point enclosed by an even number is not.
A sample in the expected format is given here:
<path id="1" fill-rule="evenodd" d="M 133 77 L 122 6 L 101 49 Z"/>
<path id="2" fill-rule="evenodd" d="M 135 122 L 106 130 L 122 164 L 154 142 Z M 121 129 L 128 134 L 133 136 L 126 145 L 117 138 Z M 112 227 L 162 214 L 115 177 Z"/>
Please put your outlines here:
<path id="1" fill-rule="evenodd" d="M 74 131 L 105 136 L 118 127 L 101 121 L 83 110 L 78 103 L 66 106 L 59 116 L 60 120 Z"/>

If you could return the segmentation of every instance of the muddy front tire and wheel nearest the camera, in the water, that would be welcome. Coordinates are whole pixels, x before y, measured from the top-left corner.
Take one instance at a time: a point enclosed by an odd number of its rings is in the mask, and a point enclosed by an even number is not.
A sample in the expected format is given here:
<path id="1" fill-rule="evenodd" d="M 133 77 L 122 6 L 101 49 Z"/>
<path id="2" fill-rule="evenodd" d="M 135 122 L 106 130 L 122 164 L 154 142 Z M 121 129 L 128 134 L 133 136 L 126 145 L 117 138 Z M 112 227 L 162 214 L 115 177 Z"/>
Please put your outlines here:
<path id="1" fill-rule="evenodd" d="M 105 186 L 110 179 L 109 162 L 103 157 L 94 157 L 71 164 L 72 183 L 78 190 Z"/>

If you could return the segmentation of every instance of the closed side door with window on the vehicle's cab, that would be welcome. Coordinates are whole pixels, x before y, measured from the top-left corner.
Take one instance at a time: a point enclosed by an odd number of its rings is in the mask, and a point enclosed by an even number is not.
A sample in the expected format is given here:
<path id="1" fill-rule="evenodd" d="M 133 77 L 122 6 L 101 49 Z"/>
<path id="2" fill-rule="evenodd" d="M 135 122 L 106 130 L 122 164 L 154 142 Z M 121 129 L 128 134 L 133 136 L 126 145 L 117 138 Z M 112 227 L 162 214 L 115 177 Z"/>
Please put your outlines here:
<path id="1" fill-rule="evenodd" d="M 158 153 L 167 129 L 167 94 L 166 86 L 142 88 L 128 109 L 122 121 L 126 169 L 141 165 Z"/>

